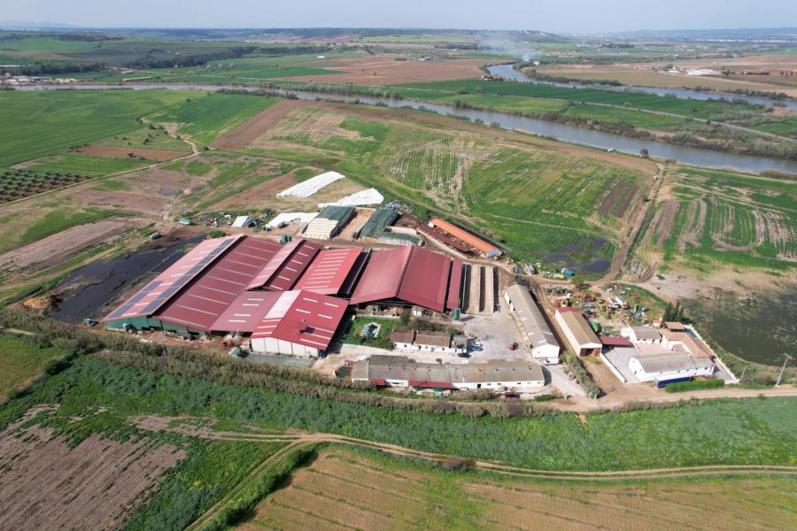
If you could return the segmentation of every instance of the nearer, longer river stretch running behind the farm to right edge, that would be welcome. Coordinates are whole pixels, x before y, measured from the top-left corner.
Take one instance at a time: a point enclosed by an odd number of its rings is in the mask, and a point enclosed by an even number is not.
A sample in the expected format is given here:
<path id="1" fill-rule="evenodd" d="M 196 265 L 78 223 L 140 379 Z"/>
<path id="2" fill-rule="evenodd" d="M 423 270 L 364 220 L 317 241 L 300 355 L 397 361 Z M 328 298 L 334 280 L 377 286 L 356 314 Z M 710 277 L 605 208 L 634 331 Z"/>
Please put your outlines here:
<path id="1" fill-rule="evenodd" d="M 55 85 L 40 85 L 18 87 L 17 90 L 55 90 L 64 89 Z M 142 83 L 135 85 L 102 85 L 102 84 L 82 84 L 73 85 L 69 89 L 81 90 L 108 90 L 108 89 L 170 89 L 170 90 L 204 90 L 218 91 L 221 89 L 242 89 L 257 91 L 257 87 L 230 87 L 228 85 L 205 85 L 191 83 Z M 642 140 L 630 136 L 613 135 L 584 129 L 582 127 L 569 126 L 543 119 L 513 116 L 503 112 L 477 111 L 475 109 L 455 109 L 449 105 L 432 104 L 427 102 L 417 102 L 413 100 L 397 100 L 391 98 L 375 96 L 337 96 L 334 94 L 322 94 L 314 92 L 290 91 L 299 99 L 313 100 L 316 98 L 337 99 L 353 102 L 360 101 L 361 104 L 380 104 L 392 108 L 410 107 L 413 109 L 425 109 L 447 116 L 467 118 L 470 120 L 482 120 L 485 124 L 498 124 L 499 127 L 508 130 L 515 130 L 522 133 L 542 135 L 551 137 L 561 142 L 571 142 L 601 150 L 615 150 L 631 155 L 638 155 L 643 149 L 654 158 L 674 159 L 681 164 L 693 165 L 698 167 L 731 169 L 746 173 L 761 173 L 763 170 L 782 170 L 785 172 L 797 173 L 797 161 L 783 158 L 753 157 L 749 155 L 736 155 L 734 153 L 724 153 L 722 151 L 700 150 L 698 148 L 687 148 L 668 142 L 658 142 Z"/>

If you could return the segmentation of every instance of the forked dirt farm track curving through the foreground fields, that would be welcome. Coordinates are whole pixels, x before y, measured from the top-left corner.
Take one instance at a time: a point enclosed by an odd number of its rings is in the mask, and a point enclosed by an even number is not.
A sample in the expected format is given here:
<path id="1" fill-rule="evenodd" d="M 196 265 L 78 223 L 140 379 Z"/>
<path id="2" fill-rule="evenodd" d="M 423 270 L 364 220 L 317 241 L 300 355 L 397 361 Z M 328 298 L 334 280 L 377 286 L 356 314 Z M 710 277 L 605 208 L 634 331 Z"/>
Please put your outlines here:
<path id="1" fill-rule="evenodd" d="M 355 437 L 347 437 L 344 435 L 324 434 L 324 433 L 286 433 L 286 434 L 268 434 L 257 431 L 248 432 L 213 432 L 208 428 L 192 429 L 174 427 L 172 421 L 174 418 L 168 417 L 153 417 L 147 416 L 139 418 L 138 427 L 149 431 L 172 431 L 184 435 L 193 435 L 200 438 L 223 440 L 223 441 L 244 441 L 251 443 L 275 443 L 282 442 L 288 443 L 280 450 L 263 460 L 259 466 L 256 466 L 251 473 L 241 481 L 235 489 L 232 489 L 224 499 L 220 500 L 196 519 L 187 529 L 196 530 L 204 527 L 221 512 L 228 504 L 239 496 L 244 489 L 251 484 L 255 478 L 264 473 L 269 466 L 274 465 L 282 457 L 286 456 L 290 451 L 296 450 L 302 446 L 316 443 L 334 443 L 346 444 L 350 446 L 360 447 L 370 450 L 378 450 L 391 455 L 409 458 L 422 458 L 429 461 L 445 462 L 453 456 L 444 454 L 437 454 L 422 450 L 413 450 L 403 446 L 388 444 L 388 443 L 375 443 Z M 183 419 L 184 420 L 184 419 Z M 205 420 L 205 419 L 201 419 Z M 797 476 L 797 466 L 769 466 L 769 465 L 719 465 L 719 466 L 680 466 L 672 468 L 653 468 L 653 469 L 640 469 L 640 470 L 620 470 L 620 471 L 557 471 L 557 470 L 539 470 L 522 468 L 518 466 L 507 466 L 498 462 L 475 460 L 469 461 L 470 466 L 478 469 L 499 473 L 502 475 L 528 478 L 528 479 L 542 479 L 553 481 L 634 481 L 634 480 L 656 480 L 656 479 L 670 479 L 670 478 L 685 478 L 685 477 L 706 477 L 706 476 L 739 476 L 739 475 L 785 475 Z"/>

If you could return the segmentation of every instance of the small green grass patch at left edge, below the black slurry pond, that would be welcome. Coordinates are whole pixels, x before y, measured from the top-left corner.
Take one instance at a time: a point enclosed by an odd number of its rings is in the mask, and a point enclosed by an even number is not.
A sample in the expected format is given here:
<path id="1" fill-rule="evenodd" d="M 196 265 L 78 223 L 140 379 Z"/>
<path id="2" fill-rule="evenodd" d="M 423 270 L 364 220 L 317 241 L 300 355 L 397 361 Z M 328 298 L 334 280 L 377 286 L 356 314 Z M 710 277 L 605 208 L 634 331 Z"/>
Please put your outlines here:
<path id="1" fill-rule="evenodd" d="M 26 337 L 0 334 L 0 403 L 42 373 L 52 359 L 63 358 L 66 350 L 40 347 Z"/>

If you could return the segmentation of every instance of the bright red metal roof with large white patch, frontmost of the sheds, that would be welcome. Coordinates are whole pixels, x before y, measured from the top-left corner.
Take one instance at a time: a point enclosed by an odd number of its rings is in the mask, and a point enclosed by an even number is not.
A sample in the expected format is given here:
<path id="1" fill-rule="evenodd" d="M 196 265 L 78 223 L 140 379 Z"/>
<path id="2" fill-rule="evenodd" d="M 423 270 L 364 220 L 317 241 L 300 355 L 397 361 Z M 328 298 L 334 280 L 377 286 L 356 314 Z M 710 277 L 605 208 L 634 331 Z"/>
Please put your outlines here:
<path id="1" fill-rule="evenodd" d="M 251 335 L 326 350 L 346 312 L 346 301 L 306 290 L 285 291 Z"/>

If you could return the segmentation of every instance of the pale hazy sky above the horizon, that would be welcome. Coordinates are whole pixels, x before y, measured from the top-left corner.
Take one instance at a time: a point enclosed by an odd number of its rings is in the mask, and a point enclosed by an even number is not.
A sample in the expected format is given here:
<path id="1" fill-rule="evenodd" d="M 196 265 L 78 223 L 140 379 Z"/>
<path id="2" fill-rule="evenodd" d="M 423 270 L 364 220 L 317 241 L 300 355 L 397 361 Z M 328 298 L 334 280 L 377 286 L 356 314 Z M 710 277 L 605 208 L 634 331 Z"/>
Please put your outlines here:
<path id="1" fill-rule="evenodd" d="M 0 0 L 0 20 L 101 27 L 797 27 L 794 0 Z"/>

